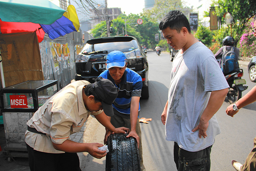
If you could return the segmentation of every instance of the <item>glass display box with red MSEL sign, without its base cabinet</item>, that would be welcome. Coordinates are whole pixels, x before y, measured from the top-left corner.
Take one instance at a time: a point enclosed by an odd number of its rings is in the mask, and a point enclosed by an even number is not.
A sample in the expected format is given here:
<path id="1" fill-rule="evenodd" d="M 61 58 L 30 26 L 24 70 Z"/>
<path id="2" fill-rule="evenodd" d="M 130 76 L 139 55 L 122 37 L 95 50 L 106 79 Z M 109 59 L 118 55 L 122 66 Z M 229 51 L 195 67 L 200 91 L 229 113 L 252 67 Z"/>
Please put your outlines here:
<path id="1" fill-rule="evenodd" d="M 35 112 L 58 91 L 57 80 L 26 81 L 1 90 L 3 112 Z"/>

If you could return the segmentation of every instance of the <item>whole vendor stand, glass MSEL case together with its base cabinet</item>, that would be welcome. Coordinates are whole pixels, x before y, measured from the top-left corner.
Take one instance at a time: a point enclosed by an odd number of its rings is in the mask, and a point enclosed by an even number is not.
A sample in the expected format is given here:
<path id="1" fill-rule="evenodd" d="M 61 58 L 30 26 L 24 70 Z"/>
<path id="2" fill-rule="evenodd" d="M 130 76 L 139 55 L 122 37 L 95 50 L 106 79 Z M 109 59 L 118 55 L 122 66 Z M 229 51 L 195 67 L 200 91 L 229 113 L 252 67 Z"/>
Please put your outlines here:
<path id="1" fill-rule="evenodd" d="M 57 80 L 25 81 L 1 89 L 6 147 L 4 155 L 27 157 L 27 121 L 52 95 L 58 92 Z"/>

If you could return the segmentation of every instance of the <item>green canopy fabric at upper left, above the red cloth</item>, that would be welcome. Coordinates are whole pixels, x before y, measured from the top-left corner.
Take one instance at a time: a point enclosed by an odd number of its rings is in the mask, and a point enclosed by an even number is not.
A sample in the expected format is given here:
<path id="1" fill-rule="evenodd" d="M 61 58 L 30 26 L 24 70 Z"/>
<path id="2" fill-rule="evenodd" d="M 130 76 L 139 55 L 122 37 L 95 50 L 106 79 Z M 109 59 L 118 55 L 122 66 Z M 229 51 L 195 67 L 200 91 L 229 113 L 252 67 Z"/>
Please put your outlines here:
<path id="1" fill-rule="evenodd" d="M 0 0 L 0 19 L 5 22 L 52 24 L 64 12 L 48 0 Z"/>

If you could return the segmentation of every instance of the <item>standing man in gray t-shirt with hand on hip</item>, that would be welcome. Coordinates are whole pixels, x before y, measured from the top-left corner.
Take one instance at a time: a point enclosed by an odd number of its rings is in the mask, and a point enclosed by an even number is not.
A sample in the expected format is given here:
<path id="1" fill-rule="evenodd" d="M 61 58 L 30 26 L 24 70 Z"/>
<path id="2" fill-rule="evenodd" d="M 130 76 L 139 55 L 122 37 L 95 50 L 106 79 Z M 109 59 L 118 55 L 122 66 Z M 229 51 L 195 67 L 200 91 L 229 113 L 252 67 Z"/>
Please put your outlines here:
<path id="1" fill-rule="evenodd" d="M 170 46 L 181 49 L 173 60 L 168 101 L 161 115 L 166 140 L 174 141 L 178 171 L 210 171 L 211 147 L 220 133 L 215 113 L 229 85 L 214 54 L 191 34 L 182 12 L 170 11 L 159 29 Z"/>

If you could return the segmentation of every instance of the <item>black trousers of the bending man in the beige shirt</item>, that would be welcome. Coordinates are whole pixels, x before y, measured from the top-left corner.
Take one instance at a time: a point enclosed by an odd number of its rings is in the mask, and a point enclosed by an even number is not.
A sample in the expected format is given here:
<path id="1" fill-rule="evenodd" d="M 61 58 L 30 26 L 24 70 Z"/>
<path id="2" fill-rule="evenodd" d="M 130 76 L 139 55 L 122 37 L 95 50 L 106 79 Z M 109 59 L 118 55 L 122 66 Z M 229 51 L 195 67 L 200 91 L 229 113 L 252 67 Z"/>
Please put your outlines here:
<path id="1" fill-rule="evenodd" d="M 77 153 L 45 153 L 27 145 L 31 171 L 81 171 Z"/>

